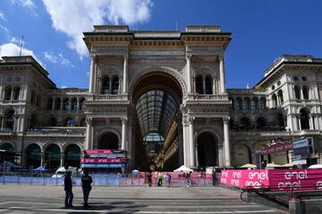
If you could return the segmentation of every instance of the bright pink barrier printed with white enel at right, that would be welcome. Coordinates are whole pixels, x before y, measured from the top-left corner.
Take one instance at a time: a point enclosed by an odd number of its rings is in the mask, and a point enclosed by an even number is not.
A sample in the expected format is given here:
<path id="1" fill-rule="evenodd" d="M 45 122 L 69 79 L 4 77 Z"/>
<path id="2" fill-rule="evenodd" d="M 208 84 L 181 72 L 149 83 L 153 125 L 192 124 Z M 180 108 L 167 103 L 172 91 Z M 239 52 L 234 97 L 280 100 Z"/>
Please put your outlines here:
<path id="1" fill-rule="evenodd" d="M 322 169 L 222 170 L 221 184 L 270 188 L 271 191 L 322 189 Z"/>

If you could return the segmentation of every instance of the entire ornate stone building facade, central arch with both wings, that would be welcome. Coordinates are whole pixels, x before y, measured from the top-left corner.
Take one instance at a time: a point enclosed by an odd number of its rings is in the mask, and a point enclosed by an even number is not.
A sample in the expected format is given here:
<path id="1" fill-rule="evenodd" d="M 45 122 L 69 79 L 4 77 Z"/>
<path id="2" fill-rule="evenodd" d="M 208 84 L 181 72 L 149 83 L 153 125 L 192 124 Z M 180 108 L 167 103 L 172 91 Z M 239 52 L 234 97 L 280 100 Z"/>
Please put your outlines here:
<path id="1" fill-rule="evenodd" d="M 237 167 L 272 139 L 301 137 L 322 161 L 321 59 L 282 55 L 254 88 L 226 89 L 231 33 L 218 26 L 84 36 L 89 89 L 57 88 L 30 56 L 0 63 L 0 149 L 22 165 L 78 166 L 82 150 L 122 149 L 127 169 Z M 284 164 L 292 151 L 263 158 Z"/>

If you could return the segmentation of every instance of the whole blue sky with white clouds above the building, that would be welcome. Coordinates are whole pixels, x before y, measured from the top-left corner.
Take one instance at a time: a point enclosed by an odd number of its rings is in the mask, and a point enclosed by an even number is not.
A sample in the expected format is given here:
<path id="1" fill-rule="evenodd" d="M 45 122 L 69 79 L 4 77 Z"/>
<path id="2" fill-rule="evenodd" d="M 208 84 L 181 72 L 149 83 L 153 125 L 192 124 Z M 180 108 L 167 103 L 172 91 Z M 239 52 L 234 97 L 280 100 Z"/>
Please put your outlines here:
<path id="1" fill-rule="evenodd" d="M 175 30 L 216 24 L 233 33 L 225 53 L 228 88 L 254 86 L 283 53 L 322 57 L 319 0 L 5 0 L 0 4 L 0 56 L 32 54 L 58 87 L 89 86 L 82 31 L 93 24 Z"/>

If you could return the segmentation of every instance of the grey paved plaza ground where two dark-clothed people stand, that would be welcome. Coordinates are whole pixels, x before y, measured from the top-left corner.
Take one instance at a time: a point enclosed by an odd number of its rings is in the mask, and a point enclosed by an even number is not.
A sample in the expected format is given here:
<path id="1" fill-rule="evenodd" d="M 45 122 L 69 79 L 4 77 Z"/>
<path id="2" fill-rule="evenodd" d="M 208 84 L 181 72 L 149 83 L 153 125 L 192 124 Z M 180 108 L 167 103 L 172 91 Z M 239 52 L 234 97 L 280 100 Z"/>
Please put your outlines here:
<path id="1" fill-rule="evenodd" d="M 82 208 L 80 186 L 74 186 L 73 209 L 64 209 L 63 186 L 1 185 L 0 213 L 285 213 L 245 203 L 240 193 L 221 186 L 94 186 L 91 207 Z"/>

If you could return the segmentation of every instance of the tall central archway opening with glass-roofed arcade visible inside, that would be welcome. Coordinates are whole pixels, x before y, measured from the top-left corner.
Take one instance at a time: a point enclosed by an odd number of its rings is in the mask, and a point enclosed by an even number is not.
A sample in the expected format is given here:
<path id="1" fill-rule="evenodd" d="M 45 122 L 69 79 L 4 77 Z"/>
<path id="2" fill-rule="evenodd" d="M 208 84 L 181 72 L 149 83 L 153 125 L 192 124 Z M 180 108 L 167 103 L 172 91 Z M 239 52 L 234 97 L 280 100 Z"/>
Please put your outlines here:
<path id="1" fill-rule="evenodd" d="M 176 119 L 182 103 L 182 89 L 165 72 L 151 72 L 133 86 L 134 167 L 142 170 L 176 169 L 183 162 Z M 180 157 L 179 157 L 180 156 Z"/>

